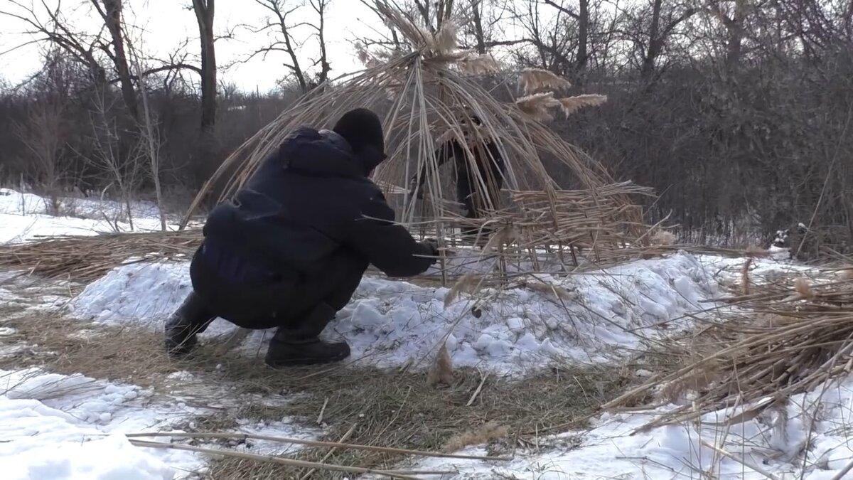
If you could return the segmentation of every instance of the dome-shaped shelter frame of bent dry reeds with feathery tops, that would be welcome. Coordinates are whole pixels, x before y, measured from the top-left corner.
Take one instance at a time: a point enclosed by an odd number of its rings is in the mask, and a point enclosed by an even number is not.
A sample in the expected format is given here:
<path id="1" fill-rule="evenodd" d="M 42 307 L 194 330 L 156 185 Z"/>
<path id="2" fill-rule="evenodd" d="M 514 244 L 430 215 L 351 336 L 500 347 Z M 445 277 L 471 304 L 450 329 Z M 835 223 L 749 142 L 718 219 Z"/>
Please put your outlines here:
<path id="1" fill-rule="evenodd" d="M 599 262 L 624 255 L 626 244 L 646 237 L 641 209 L 630 196 L 650 191 L 614 183 L 605 168 L 546 125 L 555 114 L 568 116 L 606 97 L 560 97 L 568 82 L 552 73 L 503 72 L 491 56 L 457 49 L 456 19 L 439 19 L 431 33 L 392 3 L 365 3 L 405 44 L 396 50 L 359 48 L 363 71 L 308 92 L 236 149 L 200 191 L 188 218 L 212 184 L 225 180 L 219 201 L 233 195 L 293 128 L 331 128 L 341 114 L 365 107 L 380 114 L 386 134 L 388 160 L 374 172 L 374 181 L 396 208 L 398 221 L 440 243 L 456 243 L 461 228 L 489 232 L 475 249 L 478 255 L 500 256 L 504 272 L 514 261 L 519 269 L 525 263 L 528 270 L 541 271 L 543 255 L 577 266 L 583 262 L 577 251 Z M 487 88 L 487 82 L 495 86 Z M 444 179 L 449 168 L 438 167 L 436 150 L 454 140 L 465 151 L 471 184 L 481 192 L 490 191 L 494 181 L 476 167 L 483 145 L 493 143 L 505 163 L 502 190 L 481 198 L 478 218 L 461 214 L 452 182 Z M 575 190 L 560 190 L 543 166 L 543 155 L 572 174 Z M 225 179 L 229 172 L 236 173 Z M 420 177 L 421 187 L 409 188 L 411 179 Z"/>

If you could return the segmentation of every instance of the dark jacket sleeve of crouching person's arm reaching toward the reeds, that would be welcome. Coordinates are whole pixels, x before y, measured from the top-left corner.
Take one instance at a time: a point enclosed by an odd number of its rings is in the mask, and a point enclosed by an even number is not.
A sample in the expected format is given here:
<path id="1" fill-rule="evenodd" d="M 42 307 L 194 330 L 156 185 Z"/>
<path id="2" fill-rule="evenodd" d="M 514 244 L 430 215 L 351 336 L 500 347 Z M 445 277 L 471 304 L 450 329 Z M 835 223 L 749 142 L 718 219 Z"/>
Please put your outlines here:
<path id="1" fill-rule="evenodd" d="M 394 223 L 394 212 L 380 192 L 363 203 L 361 213 L 352 222 L 347 244 L 386 275 L 414 277 L 435 263 L 432 246 L 418 242 L 403 225 Z"/>

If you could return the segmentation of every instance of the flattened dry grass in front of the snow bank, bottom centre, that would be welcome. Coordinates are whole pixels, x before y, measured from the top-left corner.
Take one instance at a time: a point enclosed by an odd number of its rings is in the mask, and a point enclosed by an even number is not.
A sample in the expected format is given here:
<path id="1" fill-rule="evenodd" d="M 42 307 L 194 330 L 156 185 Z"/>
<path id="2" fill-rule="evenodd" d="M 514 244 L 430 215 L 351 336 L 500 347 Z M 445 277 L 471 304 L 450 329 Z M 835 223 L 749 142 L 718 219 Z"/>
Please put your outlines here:
<path id="1" fill-rule="evenodd" d="M 264 385 L 269 392 L 288 388 L 309 394 L 304 401 L 287 406 L 247 406 L 241 417 L 316 419 L 325 405 L 323 419 L 330 425 L 331 442 L 350 433 L 348 442 L 362 445 L 449 451 L 482 441 L 490 445 L 491 454 L 510 454 L 517 442 L 537 432 L 583 426 L 595 407 L 631 381 L 612 367 L 543 372 L 519 381 L 496 379 L 487 381 L 468 407 L 481 381 L 471 370 L 457 372 L 452 385 L 438 389 L 427 383 L 425 373 L 312 368 L 270 377 L 268 372 L 233 365 L 229 371 L 247 373 L 250 378 L 243 381 Z M 252 378 L 252 372 L 259 377 Z M 328 448 L 305 449 L 299 458 L 368 468 L 389 468 L 403 460 L 397 455 L 346 449 L 328 456 Z M 285 465 L 249 465 L 239 459 L 218 462 L 211 471 L 215 478 L 299 478 L 304 473 Z M 324 473 L 322 477 L 343 476 Z"/>

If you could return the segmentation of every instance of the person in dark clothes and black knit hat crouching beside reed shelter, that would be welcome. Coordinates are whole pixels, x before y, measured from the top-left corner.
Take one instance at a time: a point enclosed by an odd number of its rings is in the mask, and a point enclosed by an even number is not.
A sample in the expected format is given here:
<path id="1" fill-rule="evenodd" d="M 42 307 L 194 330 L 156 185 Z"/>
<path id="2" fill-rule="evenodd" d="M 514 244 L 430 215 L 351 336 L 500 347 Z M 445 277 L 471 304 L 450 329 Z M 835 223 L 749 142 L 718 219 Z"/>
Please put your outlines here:
<path id="1" fill-rule="evenodd" d="M 379 118 L 359 108 L 332 131 L 300 127 L 264 160 L 204 226 L 193 291 L 166 321 L 169 354 L 188 354 L 196 334 L 221 317 L 243 328 L 276 328 L 270 366 L 343 360 L 345 342 L 319 335 L 350 301 L 373 264 L 391 277 L 425 272 L 432 241 L 417 242 L 368 178 L 386 155 Z"/>

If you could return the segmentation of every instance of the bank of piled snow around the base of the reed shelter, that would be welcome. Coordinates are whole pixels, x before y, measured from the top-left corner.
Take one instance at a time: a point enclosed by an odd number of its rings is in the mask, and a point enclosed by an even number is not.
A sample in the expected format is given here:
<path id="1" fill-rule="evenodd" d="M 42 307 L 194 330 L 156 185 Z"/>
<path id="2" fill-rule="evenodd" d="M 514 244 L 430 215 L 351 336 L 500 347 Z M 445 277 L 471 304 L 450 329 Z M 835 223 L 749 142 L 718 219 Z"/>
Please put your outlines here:
<path id="1" fill-rule="evenodd" d="M 354 359 L 399 366 L 428 358 L 445 334 L 456 366 L 512 372 L 543 366 L 554 357 L 606 361 L 691 325 L 685 315 L 717 294 L 717 282 L 695 256 L 640 260 L 603 272 L 538 276 L 567 295 L 547 290 L 486 290 L 485 300 L 461 296 L 444 307 L 449 289 L 363 278 L 353 300 L 330 325 L 351 344 Z M 119 266 L 90 284 L 71 303 L 78 318 L 160 328 L 190 291 L 189 265 Z M 228 331 L 217 320 L 212 333 Z M 209 332 L 206 332 L 206 334 Z M 258 350 L 269 334 L 247 338 Z"/>

